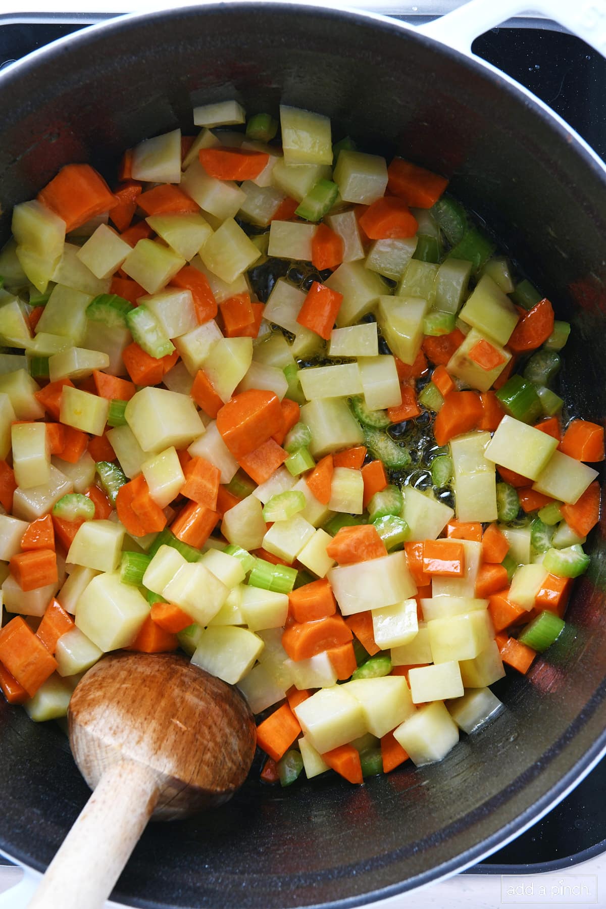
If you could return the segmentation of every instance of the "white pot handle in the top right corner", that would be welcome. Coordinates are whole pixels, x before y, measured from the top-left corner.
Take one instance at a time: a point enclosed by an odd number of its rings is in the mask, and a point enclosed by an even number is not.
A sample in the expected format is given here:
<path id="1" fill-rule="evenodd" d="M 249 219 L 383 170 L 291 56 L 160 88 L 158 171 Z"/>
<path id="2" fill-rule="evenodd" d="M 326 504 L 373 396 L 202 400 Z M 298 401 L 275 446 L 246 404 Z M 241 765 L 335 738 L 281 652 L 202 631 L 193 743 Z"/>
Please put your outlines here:
<path id="1" fill-rule="evenodd" d="M 514 15 L 542 13 L 606 56 L 606 0 L 470 0 L 417 31 L 472 56 L 472 42 Z"/>

